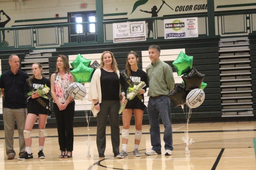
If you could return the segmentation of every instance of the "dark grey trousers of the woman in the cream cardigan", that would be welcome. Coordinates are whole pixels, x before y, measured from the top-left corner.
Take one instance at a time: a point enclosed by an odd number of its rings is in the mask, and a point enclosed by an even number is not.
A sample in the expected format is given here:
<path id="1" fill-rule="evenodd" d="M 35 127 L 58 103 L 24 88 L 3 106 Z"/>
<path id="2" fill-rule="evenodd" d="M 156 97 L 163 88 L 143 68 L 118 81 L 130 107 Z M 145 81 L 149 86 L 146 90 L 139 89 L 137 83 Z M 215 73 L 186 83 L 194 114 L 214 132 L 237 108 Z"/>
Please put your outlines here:
<path id="1" fill-rule="evenodd" d="M 102 154 L 106 149 L 106 124 L 109 116 L 111 128 L 111 142 L 113 153 L 119 153 L 120 129 L 119 129 L 119 100 L 103 100 L 100 103 L 100 112 L 97 116 L 97 148 L 98 153 Z"/>

